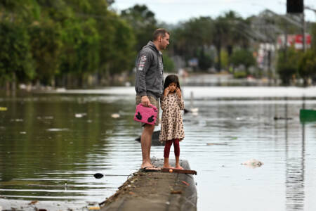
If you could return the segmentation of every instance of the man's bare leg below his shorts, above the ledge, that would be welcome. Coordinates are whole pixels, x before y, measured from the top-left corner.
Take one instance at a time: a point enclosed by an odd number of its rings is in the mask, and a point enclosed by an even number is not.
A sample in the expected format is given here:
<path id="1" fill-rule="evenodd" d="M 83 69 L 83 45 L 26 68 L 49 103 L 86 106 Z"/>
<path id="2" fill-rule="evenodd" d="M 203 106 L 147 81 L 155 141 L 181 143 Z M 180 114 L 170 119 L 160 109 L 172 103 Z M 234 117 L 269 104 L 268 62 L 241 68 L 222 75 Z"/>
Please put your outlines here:
<path id="1" fill-rule="evenodd" d="M 150 147 L 152 146 L 152 133 L 154 132 L 154 125 L 145 124 L 142 136 L 140 137 L 140 144 L 142 146 L 143 163 L 142 168 L 152 166 L 150 161 Z"/>

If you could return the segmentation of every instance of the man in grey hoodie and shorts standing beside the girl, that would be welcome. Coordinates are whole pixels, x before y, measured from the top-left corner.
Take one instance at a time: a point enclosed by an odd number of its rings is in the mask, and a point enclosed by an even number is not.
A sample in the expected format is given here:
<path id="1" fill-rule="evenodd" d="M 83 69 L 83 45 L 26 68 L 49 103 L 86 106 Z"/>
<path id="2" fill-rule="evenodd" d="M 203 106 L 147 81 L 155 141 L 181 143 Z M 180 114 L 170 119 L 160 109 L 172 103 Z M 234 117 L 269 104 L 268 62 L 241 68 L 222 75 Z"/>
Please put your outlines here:
<path id="1" fill-rule="evenodd" d="M 143 133 L 140 137 L 143 163 L 141 170 L 158 171 L 150 161 L 150 146 L 152 145 L 152 133 L 154 126 L 159 125 L 159 98 L 164 87 L 164 65 L 162 63 L 162 50 L 169 45 L 170 33 L 164 29 L 157 29 L 153 34 L 153 41 L 140 50 L 136 60 L 136 105 L 150 104 L 158 108 L 157 120 L 154 125 L 142 124 Z"/>

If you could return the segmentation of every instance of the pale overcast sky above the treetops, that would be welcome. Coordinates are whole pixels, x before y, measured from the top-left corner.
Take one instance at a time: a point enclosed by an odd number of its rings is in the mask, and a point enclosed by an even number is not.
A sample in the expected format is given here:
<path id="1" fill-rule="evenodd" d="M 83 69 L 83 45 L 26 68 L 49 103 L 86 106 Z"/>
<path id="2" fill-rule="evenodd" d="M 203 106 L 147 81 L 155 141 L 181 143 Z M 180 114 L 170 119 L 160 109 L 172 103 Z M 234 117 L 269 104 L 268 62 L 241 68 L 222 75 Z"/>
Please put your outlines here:
<path id="1" fill-rule="evenodd" d="M 115 0 L 112 8 L 119 12 L 135 4 L 145 4 L 155 14 L 157 20 L 174 24 L 199 16 L 216 18 L 230 10 L 236 11 L 243 18 L 258 15 L 265 8 L 284 15 L 287 11 L 286 2 L 286 0 Z M 305 0 L 304 5 L 316 9 L 315 0 Z M 305 10 L 305 20 L 316 21 L 315 13 Z"/>

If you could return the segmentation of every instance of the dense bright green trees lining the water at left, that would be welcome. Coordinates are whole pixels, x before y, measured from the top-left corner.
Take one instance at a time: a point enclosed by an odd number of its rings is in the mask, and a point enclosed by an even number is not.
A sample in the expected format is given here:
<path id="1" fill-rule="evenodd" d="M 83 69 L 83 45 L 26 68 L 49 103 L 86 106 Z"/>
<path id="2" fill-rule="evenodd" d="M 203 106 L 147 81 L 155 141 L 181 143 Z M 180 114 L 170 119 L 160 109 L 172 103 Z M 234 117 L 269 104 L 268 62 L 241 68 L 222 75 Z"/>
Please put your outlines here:
<path id="1" fill-rule="evenodd" d="M 89 75 L 131 70 L 135 36 L 112 0 L 0 1 L 2 82 L 82 86 Z M 74 83 L 65 84 L 65 78 Z"/>

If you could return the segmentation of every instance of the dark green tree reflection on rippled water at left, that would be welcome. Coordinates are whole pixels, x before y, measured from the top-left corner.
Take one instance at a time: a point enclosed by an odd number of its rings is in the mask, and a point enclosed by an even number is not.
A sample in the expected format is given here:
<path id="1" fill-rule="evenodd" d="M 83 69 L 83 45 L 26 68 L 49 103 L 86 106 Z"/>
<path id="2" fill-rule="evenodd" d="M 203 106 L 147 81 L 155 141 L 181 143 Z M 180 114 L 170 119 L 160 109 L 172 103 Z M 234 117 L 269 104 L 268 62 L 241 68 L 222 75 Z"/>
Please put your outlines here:
<path id="1" fill-rule="evenodd" d="M 124 106 L 89 101 L 86 96 L 4 98 L 8 110 L 0 113 L 1 196 L 82 200 L 82 206 L 89 198 L 102 201 L 116 190 L 117 184 L 105 186 L 105 179 L 96 181 L 93 174 L 113 165 L 107 139 L 117 128 L 110 113 Z M 87 115 L 78 118 L 77 113 Z"/>

